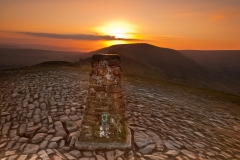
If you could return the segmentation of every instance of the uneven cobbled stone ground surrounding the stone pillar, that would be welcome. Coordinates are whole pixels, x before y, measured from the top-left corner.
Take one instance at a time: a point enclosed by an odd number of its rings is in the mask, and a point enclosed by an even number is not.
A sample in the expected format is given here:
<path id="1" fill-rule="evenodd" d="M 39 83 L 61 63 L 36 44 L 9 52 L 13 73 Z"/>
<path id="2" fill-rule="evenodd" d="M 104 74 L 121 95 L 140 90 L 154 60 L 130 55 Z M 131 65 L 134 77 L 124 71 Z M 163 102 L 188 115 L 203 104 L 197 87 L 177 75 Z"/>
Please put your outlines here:
<path id="1" fill-rule="evenodd" d="M 8 160 L 240 159 L 240 117 L 228 101 L 125 77 L 131 150 L 77 150 L 88 73 L 0 71 L 0 157 Z M 239 107 L 239 106 L 237 106 Z"/>

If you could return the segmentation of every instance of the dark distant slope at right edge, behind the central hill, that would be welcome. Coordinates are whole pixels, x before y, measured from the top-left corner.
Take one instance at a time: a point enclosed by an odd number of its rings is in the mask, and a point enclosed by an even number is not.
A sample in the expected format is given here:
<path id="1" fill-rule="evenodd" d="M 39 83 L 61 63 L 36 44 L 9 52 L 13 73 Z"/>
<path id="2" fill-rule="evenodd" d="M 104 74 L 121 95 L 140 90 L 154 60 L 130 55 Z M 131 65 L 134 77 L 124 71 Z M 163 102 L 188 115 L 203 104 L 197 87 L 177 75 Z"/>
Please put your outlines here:
<path id="1" fill-rule="evenodd" d="M 240 50 L 181 50 L 185 56 L 221 77 L 240 93 Z"/>

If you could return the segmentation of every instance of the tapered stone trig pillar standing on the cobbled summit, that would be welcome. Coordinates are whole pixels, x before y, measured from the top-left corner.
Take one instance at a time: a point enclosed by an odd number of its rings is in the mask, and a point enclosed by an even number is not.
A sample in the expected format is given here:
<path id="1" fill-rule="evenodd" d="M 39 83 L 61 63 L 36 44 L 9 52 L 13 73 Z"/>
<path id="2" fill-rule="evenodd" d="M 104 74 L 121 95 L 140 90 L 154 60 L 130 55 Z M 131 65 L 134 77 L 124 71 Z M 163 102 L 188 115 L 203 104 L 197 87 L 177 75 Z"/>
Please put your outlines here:
<path id="1" fill-rule="evenodd" d="M 93 55 L 87 111 L 75 147 L 131 148 L 131 131 L 125 117 L 120 57 L 117 54 Z"/>

